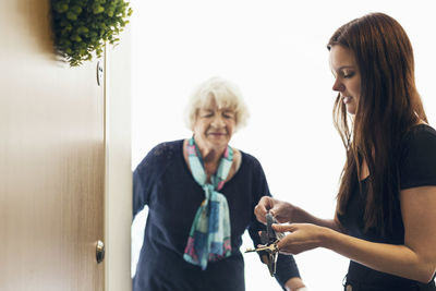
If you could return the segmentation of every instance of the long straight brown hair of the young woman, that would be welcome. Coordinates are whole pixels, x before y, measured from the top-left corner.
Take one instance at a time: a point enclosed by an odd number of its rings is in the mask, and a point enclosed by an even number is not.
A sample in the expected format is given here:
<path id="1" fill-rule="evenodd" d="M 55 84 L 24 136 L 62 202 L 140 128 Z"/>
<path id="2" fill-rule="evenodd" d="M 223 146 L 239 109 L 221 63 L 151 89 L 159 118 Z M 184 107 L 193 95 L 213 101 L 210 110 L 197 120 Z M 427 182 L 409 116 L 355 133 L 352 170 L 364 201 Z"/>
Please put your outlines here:
<path id="1" fill-rule="evenodd" d="M 327 48 L 337 45 L 354 53 L 361 75 L 361 95 L 351 126 L 340 95 L 334 107 L 335 126 L 347 149 L 337 214 L 344 214 L 365 160 L 370 170 L 365 230 L 384 234 L 391 229 L 399 207 L 398 145 L 420 119 L 427 122 L 415 86 L 413 49 L 401 25 L 383 13 L 371 13 L 339 27 Z"/>

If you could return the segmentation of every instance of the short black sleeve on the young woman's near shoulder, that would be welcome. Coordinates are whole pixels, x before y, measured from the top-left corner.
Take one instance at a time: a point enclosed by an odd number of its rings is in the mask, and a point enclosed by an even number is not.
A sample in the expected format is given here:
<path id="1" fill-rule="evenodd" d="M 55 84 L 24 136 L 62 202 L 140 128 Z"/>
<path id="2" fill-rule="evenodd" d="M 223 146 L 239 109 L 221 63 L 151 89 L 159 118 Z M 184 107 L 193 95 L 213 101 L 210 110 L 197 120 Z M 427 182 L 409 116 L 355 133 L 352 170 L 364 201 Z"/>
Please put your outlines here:
<path id="1" fill-rule="evenodd" d="M 436 131 L 420 126 L 408 134 L 400 154 L 401 190 L 436 185 Z"/>

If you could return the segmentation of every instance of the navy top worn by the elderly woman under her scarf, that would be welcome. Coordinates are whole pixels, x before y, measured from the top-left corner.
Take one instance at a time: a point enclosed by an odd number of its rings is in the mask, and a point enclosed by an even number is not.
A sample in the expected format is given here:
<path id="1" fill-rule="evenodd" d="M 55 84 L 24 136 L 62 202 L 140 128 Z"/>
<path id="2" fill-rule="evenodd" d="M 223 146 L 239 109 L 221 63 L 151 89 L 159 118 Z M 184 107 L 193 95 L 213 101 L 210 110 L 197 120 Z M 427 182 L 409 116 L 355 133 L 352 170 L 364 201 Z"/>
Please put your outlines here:
<path id="1" fill-rule="evenodd" d="M 241 154 L 240 169 L 220 191 L 229 205 L 232 254 L 209 262 L 206 270 L 183 259 L 194 216 L 205 198 L 183 158 L 183 141 L 156 146 L 137 166 L 133 175 L 133 215 L 147 205 L 148 217 L 134 291 L 245 289 L 241 237 L 249 229 L 254 245 L 261 243 L 257 232 L 264 226 L 256 220 L 254 207 L 262 196 L 270 194 L 258 160 Z M 300 277 L 293 257 L 279 255 L 276 279 L 283 287 L 292 277 Z"/>

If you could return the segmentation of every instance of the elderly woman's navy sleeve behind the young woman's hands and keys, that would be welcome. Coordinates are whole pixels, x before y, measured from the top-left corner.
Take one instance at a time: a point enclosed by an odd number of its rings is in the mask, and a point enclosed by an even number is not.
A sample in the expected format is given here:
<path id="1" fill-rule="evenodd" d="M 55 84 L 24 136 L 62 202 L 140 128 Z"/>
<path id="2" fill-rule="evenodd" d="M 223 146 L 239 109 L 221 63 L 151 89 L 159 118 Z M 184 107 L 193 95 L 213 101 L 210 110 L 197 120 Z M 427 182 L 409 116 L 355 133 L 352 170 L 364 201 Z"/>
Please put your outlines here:
<path id="1" fill-rule="evenodd" d="M 257 190 L 257 193 L 253 193 L 254 195 L 254 205 L 253 205 L 253 214 L 252 214 L 252 222 L 249 227 L 249 233 L 253 241 L 254 247 L 261 244 L 261 237 L 258 235 L 259 230 L 265 230 L 265 226 L 257 221 L 256 216 L 254 215 L 254 207 L 257 205 L 262 196 L 271 196 L 269 193 L 268 183 L 266 181 L 266 177 L 264 170 L 262 169 L 261 163 L 255 159 L 254 162 L 255 167 L 255 175 L 253 179 L 253 183 L 255 186 L 253 189 Z M 261 257 L 259 257 L 261 258 Z M 262 258 L 261 258 L 262 260 Z M 265 271 L 267 267 L 265 266 Z M 276 280 L 284 290 L 284 283 L 294 277 L 300 277 L 299 268 L 292 255 L 283 255 L 279 254 L 277 258 L 277 266 L 276 266 Z"/>

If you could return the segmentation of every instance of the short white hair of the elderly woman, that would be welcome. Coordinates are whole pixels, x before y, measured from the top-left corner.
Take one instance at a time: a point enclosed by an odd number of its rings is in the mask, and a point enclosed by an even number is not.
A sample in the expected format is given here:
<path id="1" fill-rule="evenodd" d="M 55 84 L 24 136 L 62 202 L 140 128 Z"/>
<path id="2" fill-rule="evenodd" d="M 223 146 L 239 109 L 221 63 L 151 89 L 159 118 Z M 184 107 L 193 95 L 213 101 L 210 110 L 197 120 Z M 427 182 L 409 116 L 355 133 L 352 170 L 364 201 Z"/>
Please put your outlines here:
<path id="1" fill-rule="evenodd" d="M 210 77 L 197 86 L 187 102 L 184 116 L 190 130 L 194 129 L 198 109 L 214 100 L 219 108 L 234 110 L 235 130 L 246 124 L 250 114 L 238 86 L 220 77 Z"/>

